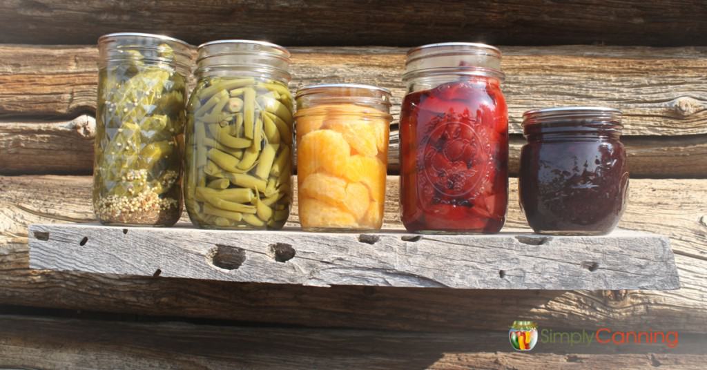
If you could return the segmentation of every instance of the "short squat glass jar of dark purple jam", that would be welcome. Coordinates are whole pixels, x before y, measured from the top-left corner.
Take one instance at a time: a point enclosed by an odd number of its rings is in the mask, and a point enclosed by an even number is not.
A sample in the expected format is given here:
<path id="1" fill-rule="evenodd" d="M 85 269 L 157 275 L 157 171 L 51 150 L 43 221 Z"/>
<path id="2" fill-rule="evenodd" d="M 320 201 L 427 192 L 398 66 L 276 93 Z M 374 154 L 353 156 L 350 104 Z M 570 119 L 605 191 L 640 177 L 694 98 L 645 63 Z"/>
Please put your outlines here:
<path id="1" fill-rule="evenodd" d="M 601 107 L 530 110 L 520 152 L 520 207 L 536 233 L 601 235 L 626 208 L 629 172 L 621 112 Z"/>

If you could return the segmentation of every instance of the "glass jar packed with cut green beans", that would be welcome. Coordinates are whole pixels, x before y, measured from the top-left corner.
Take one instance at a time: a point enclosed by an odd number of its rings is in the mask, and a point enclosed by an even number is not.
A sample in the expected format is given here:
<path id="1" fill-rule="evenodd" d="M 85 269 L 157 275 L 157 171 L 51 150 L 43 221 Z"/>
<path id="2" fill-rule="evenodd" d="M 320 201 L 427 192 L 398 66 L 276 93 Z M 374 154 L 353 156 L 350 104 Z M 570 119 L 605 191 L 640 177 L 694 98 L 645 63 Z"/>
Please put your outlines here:
<path id="1" fill-rule="evenodd" d="M 292 199 L 290 53 L 218 40 L 198 49 L 187 105 L 185 204 L 210 229 L 281 229 Z"/>

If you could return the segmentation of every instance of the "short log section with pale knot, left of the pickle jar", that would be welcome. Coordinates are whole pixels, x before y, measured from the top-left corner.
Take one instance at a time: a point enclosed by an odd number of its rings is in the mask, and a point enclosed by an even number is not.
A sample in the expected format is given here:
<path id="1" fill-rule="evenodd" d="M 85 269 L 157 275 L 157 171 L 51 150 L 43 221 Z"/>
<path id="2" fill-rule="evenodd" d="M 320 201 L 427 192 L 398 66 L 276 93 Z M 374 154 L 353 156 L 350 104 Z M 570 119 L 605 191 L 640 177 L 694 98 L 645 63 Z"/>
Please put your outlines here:
<path id="1" fill-rule="evenodd" d="M 0 173 L 93 173 L 95 119 L 0 123 Z"/>

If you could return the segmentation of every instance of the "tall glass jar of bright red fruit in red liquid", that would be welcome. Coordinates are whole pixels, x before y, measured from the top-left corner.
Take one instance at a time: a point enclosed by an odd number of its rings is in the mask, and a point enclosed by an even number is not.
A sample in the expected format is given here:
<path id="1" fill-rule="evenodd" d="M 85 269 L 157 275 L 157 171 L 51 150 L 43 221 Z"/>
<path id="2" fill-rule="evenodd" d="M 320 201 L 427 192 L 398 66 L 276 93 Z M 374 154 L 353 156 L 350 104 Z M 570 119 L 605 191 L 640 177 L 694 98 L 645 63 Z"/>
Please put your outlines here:
<path id="1" fill-rule="evenodd" d="M 402 221 L 420 233 L 496 233 L 508 205 L 501 52 L 448 42 L 407 53 L 400 114 Z"/>

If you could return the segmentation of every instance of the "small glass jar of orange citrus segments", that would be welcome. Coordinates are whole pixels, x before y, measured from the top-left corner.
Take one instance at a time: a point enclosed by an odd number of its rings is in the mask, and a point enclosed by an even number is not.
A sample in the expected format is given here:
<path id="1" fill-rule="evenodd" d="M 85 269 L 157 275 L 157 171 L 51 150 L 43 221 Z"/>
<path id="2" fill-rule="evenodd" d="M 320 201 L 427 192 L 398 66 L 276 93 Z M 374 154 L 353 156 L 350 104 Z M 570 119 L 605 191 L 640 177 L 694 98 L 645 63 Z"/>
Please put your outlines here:
<path id="1" fill-rule="evenodd" d="M 390 91 L 351 83 L 305 86 L 297 92 L 295 117 L 302 228 L 380 229 Z"/>

